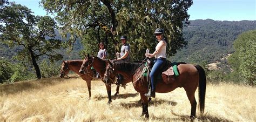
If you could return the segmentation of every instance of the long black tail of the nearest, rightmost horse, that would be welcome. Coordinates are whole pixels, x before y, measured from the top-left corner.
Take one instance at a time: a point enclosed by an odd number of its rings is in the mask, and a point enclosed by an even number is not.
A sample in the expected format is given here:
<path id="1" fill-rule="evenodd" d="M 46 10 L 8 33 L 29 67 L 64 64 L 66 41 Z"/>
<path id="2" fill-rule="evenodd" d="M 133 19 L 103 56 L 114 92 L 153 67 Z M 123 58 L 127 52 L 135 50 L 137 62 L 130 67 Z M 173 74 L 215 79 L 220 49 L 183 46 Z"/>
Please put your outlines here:
<path id="1" fill-rule="evenodd" d="M 198 90 L 198 97 L 199 97 L 199 110 L 200 113 L 204 113 L 205 110 L 205 93 L 206 93 L 206 76 L 205 70 L 200 65 L 195 65 L 199 73 L 199 90 Z"/>

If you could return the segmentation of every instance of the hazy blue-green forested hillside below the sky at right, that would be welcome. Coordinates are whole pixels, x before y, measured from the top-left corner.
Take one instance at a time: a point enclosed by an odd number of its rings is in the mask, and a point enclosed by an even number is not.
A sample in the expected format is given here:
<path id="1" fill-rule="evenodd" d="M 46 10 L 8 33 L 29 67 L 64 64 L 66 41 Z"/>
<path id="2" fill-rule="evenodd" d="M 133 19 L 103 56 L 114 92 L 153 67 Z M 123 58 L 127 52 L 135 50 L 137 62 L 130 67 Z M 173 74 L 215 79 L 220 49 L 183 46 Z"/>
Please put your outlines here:
<path id="1" fill-rule="evenodd" d="M 183 30 L 187 46 L 171 60 L 190 63 L 214 63 L 234 52 L 233 42 L 239 34 L 256 29 L 256 21 L 191 21 Z"/>

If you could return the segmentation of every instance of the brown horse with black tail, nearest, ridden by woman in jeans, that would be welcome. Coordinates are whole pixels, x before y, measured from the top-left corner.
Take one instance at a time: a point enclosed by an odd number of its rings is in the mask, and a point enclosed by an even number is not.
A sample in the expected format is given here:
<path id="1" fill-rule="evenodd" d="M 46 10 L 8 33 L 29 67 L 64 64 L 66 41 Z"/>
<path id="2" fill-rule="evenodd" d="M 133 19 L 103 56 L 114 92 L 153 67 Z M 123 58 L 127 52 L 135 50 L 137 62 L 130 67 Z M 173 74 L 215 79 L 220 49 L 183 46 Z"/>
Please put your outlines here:
<path id="1" fill-rule="evenodd" d="M 163 79 L 158 79 L 156 86 L 156 92 L 158 93 L 167 93 L 171 92 L 177 87 L 184 87 L 186 91 L 188 100 L 191 104 L 191 118 L 196 117 L 196 107 L 197 101 L 194 97 L 194 93 L 199 87 L 199 109 L 200 112 L 204 112 L 205 107 L 205 92 L 206 92 L 206 77 L 204 69 L 199 65 L 192 65 L 186 63 L 177 63 L 179 76 L 176 78 L 176 81 L 171 84 L 165 84 Z M 104 79 L 108 79 L 109 76 L 120 73 L 124 77 L 130 77 L 133 82 L 134 89 L 140 93 L 140 97 L 143 102 L 142 116 L 145 115 L 146 118 L 149 118 L 148 112 L 148 100 L 144 96 L 147 93 L 147 80 L 143 76 L 143 68 L 145 64 L 141 63 L 131 63 L 124 61 L 113 61 L 109 62 L 106 67 L 106 72 Z"/>

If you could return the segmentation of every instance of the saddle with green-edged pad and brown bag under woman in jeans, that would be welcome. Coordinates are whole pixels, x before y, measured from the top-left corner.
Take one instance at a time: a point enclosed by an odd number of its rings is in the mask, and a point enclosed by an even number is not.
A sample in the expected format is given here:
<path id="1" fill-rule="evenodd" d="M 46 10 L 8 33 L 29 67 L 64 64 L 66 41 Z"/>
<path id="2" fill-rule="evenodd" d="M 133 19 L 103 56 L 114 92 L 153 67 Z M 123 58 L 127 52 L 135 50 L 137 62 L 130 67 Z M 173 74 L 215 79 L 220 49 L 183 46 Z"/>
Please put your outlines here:
<path id="1" fill-rule="evenodd" d="M 152 60 L 147 60 L 147 65 L 149 66 L 149 70 L 151 71 L 153 67 Z M 158 74 L 157 79 L 158 80 L 163 79 L 164 83 L 171 84 L 176 80 L 178 76 L 179 76 L 179 71 L 178 71 L 177 63 L 176 62 L 172 63 L 169 60 L 166 60 L 166 63 L 164 64 L 163 69 L 161 69 L 161 73 Z"/>

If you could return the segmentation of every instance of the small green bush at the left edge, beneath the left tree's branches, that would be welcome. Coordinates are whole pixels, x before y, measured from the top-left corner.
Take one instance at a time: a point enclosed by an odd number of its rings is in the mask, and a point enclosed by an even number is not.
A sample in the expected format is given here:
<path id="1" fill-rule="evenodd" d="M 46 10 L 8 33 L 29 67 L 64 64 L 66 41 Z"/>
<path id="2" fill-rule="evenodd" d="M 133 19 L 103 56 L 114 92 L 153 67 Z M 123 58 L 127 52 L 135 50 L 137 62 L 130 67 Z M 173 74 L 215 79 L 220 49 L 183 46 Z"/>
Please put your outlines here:
<path id="1" fill-rule="evenodd" d="M 0 83 L 8 82 L 13 72 L 10 62 L 0 60 Z"/>

